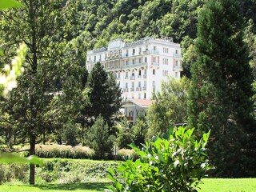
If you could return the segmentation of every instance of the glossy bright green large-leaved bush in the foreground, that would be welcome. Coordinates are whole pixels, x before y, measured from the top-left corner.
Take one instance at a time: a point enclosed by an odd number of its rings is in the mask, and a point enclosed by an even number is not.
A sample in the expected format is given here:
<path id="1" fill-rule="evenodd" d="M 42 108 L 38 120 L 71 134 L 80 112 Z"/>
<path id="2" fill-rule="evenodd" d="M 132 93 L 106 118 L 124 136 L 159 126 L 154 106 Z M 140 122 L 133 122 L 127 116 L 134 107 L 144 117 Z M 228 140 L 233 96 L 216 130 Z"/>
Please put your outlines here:
<path id="1" fill-rule="evenodd" d="M 210 132 L 198 142 L 193 131 L 179 127 L 168 140 L 146 142 L 142 150 L 132 146 L 140 158 L 109 170 L 110 191 L 197 191 L 210 169 L 205 153 Z"/>

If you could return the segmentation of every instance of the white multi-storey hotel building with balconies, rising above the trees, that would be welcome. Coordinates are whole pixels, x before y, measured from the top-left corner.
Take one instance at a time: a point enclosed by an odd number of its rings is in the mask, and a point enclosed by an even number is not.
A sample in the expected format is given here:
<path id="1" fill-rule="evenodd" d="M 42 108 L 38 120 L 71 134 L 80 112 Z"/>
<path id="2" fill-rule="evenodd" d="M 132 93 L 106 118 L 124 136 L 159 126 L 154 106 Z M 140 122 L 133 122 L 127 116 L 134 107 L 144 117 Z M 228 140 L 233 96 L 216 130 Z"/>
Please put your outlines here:
<path id="1" fill-rule="evenodd" d="M 167 76 L 180 78 L 182 54 L 172 38 L 142 38 L 135 42 L 111 41 L 107 47 L 87 52 L 86 68 L 96 62 L 113 71 L 122 88 L 122 98 L 150 99 L 161 90 Z"/>

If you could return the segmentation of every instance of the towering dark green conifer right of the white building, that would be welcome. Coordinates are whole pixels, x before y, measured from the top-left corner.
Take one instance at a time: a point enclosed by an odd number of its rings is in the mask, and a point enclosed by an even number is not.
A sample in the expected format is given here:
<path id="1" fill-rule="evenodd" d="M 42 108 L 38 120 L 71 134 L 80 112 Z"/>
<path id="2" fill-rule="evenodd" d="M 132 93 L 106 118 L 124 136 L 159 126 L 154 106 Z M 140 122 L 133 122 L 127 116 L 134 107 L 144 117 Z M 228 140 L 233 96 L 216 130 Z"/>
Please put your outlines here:
<path id="1" fill-rule="evenodd" d="M 237 0 L 209 0 L 198 18 L 189 120 L 198 134 L 211 130 L 210 159 L 222 177 L 255 174 L 252 78 L 243 24 Z"/>

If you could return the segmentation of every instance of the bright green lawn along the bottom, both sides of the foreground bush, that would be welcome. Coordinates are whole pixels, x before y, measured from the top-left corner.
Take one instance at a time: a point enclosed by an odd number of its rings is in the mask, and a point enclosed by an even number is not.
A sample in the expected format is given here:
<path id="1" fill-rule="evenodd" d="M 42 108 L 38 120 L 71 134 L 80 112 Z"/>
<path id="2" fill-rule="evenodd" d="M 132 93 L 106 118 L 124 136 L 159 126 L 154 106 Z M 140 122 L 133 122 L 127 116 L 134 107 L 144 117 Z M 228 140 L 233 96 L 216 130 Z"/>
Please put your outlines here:
<path id="1" fill-rule="evenodd" d="M 256 192 L 256 178 L 206 178 L 198 192 Z M 0 186 L 0 192 L 91 192 L 104 191 L 104 182 L 88 182 L 77 184 L 48 184 L 38 186 L 16 185 Z"/>

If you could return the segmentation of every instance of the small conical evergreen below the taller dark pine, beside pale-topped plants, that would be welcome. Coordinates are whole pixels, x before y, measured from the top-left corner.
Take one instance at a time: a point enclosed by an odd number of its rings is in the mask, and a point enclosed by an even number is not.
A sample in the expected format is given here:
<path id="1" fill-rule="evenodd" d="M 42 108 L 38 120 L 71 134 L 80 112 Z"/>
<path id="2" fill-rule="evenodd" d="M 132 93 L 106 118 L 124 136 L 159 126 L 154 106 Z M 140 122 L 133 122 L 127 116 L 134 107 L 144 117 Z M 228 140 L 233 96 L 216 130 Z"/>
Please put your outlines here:
<path id="1" fill-rule="evenodd" d="M 109 126 L 100 115 L 93 126 L 90 127 L 88 140 L 94 149 L 96 158 L 104 158 L 105 154 L 111 154 L 115 137 L 110 134 Z"/>

